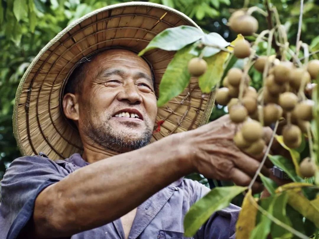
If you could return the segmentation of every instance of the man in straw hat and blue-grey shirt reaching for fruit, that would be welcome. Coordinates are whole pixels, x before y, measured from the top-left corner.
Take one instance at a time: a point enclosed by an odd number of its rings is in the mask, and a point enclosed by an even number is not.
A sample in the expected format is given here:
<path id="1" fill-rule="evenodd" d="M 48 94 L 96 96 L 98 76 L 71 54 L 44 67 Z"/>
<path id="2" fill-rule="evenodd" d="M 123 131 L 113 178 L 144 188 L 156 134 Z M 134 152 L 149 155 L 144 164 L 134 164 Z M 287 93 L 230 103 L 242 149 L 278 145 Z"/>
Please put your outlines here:
<path id="1" fill-rule="evenodd" d="M 158 124 L 153 135 L 167 137 L 149 144 L 154 123 L 164 118 L 156 106 L 159 73 L 167 66 L 165 57 L 170 60 L 174 53 L 155 51 L 151 63 L 137 56 L 145 42 L 135 28 L 151 24 L 146 29 L 156 32 L 159 23 L 167 28 L 172 22 L 194 25 L 158 4 L 114 5 L 63 30 L 35 58 L 18 89 L 15 135 L 22 153 L 44 153 L 16 159 L 6 171 L 1 239 L 183 238 L 185 213 L 209 191 L 183 176 L 199 172 L 238 185 L 250 182 L 259 161 L 234 146 L 235 125 L 227 116 L 197 129 L 199 123 L 190 125 L 190 131 L 175 122 L 176 134 L 159 131 Z M 112 41 L 105 40 L 103 29 L 116 30 Z M 105 42 L 112 43 L 99 45 Z M 208 99 L 198 104 L 198 117 L 211 105 Z M 195 117 L 189 116 L 197 122 Z M 213 214 L 195 238 L 234 238 L 239 210 L 230 205 Z"/>

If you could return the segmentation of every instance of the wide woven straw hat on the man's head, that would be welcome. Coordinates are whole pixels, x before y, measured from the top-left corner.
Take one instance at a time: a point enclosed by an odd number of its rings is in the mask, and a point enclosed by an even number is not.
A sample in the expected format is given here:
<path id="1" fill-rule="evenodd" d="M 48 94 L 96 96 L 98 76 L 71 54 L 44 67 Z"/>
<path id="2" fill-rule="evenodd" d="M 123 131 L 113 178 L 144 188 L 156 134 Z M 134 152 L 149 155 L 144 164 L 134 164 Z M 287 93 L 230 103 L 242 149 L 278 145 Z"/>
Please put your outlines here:
<path id="1" fill-rule="evenodd" d="M 56 35 L 35 57 L 17 90 L 13 129 L 23 155 L 46 153 L 64 159 L 81 153 L 78 131 L 61 111 L 63 88 L 70 73 L 85 56 L 121 46 L 139 52 L 161 31 L 175 26 L 196 26 L 183 13 L 160 4 L 130 2 L 93 11 Z M 145 54 L 152 64 L 156 89 L 174 51 L 154 49 Z M 195 129 L 208 121 L 213 94 L 203 96 L 192 78 L 179 96 L 158 109 L 152 141 Z M 163 123 L 164 121 L 164 123 Z"/>

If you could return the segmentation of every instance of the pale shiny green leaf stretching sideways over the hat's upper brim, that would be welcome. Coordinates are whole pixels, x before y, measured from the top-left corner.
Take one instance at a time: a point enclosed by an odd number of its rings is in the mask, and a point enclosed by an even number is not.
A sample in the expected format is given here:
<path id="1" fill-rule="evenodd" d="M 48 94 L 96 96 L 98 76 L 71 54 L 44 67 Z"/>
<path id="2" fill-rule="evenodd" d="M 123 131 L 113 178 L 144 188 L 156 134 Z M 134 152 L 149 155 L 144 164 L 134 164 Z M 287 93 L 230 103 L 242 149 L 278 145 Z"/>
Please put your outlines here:
<path id="1" fill-rule="evenodd" d="M 180 50 L 183 47 L 199 40 L 204 33 L 194 26 L 177 26 L 167 28 L 157 34 L 152 41 L 143 49 L 138 56 L 142 56 L 146 51 L 160 48 L 167 51 Z"/>

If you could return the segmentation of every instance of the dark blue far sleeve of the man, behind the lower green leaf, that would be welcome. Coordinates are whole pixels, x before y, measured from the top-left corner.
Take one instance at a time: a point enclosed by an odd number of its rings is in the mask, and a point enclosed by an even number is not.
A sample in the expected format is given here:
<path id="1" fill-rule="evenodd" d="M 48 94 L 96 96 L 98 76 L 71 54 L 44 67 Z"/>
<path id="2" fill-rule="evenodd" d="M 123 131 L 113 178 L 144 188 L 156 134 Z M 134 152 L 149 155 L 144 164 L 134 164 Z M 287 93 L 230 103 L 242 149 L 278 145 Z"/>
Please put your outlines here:
<path id="1" fill-rule="evenodd" d="M 200 186 L 199 198 L 210 190 Z M 214 213 L 208 221 L 198 230 L 195 239 L 235 239 L 235 227 L 241 208 L 230 204 L 228 207 Z"/>

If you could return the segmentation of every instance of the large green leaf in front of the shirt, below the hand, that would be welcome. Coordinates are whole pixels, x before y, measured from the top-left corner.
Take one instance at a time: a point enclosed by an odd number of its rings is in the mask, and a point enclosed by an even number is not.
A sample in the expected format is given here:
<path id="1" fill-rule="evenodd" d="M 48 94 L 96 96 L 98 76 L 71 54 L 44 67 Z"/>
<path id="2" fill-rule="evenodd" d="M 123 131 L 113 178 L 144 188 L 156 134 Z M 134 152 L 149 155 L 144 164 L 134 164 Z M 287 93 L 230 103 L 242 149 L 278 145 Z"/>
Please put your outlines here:
<path id="1" fill-rule="evenodd" d="M 232 198 L 246 189 L 240 186 L 217 187 L 194 203 L 184 219 L 185 237 L 193 236 L 214 212 L 227 207 Z"/>

